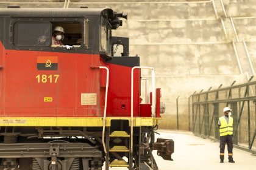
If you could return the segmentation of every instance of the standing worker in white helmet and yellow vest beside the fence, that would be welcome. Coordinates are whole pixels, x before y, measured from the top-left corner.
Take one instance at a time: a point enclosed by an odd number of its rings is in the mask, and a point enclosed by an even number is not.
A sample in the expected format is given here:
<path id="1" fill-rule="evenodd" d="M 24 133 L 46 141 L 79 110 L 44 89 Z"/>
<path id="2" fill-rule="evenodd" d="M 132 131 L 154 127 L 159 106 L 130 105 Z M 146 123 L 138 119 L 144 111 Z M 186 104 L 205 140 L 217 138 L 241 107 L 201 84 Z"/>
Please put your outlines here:
<path id="1" fill-rule="evenodd" d="M 229 107 L 224 107 L 223 109 L 224 116 L 219 118 L 219 148 L 221 163 L 224 161 L 224 151 L 225 145 L 227 143 L 227 151 L 229 152 L 229 162 L 235 163 L 233 160 L 233 118 L 230 117 L 231 109 Z"/>

